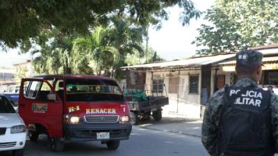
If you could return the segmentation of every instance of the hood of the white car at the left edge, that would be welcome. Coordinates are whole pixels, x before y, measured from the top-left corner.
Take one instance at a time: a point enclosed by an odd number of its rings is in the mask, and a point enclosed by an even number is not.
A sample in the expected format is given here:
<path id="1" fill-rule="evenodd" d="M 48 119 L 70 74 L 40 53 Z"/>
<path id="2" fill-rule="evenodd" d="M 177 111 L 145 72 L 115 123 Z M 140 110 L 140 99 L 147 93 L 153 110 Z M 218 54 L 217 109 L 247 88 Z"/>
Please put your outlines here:
<path id="1" fill-rule="evenodd" d="M 24 125 L 17 113 L 0 113 L 0 128 L 10 128 L 14 125 Z"/>

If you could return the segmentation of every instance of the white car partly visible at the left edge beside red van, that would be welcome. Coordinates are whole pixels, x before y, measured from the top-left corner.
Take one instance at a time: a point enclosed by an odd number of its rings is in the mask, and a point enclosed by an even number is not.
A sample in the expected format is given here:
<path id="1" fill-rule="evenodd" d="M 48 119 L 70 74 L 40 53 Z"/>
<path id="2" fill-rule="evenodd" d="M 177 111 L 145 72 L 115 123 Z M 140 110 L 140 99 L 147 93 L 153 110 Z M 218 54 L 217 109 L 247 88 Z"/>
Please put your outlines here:
<path id="1" fill-rule="evenodd" d="M 24 155 L 26 127 L 8 98 L 0 94 L 0 152 L 11 150 L 13 156 Z"/>

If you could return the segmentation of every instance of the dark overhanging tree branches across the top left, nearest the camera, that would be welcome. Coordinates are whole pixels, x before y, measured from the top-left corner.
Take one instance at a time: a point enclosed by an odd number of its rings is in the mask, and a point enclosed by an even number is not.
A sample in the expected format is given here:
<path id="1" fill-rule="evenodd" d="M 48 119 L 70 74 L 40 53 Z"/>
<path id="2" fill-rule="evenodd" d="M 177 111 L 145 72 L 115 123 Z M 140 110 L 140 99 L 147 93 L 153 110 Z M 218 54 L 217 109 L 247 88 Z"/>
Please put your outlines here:
<path id="1" fill-rule="evenodd" d="M 97 25 L 107 26 L 109 17 L 128 16 L 133 24 L 161 27 L 167 19 L 165 8 L 178 5 L 183 8 L 181 21 L 188 24 L 199 17 L 190 0 L 2 0 L 0 1 L 0 46 L 25 51 L 31 48 L 42 31 L 53 28 L 64 34 L 89 33 Z M 40 39 L 40 40 L 44 40 Z"/>

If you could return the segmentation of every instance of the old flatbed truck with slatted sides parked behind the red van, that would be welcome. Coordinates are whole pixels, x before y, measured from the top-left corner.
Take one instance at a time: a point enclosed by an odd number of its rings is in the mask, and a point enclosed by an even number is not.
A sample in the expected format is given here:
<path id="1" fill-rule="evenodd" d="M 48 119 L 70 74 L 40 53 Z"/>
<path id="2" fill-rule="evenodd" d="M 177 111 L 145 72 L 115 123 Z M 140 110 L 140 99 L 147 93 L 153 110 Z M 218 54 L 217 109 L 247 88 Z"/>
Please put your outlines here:
<path id="1" fill-rule="evenodd" d="M 149 87 L 148 87 L 149 86 Z M 162 107 L 169 104 L 169 98 L 165 90 L 165 85 L 160 85 L 163 90 L 153 89 L 150 85 L 143 87 L 145 91 L 141 89 L 124 89 L 124 96 L 129 103 L 129 109 L 131 110 L 131 123 L 137 125 L 140 121 L 146 121 L 153 116 L 154 120 L 161 121 L 162 119 Z M 138 87 L 142 88 L 142 87 Z M 149 89 L 151 90 L 149 90 Z M 147 94 L 150 94 L 147 96 Z"/>

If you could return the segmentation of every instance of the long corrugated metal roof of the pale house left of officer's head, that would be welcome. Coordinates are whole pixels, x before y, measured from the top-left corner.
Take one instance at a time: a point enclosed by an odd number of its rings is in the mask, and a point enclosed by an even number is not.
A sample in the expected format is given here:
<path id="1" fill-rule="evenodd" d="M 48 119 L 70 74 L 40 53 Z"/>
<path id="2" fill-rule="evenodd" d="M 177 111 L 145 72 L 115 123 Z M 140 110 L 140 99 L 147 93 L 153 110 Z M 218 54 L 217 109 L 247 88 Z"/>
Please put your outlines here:
<path id="1" fill-rule="evenodd" d="M 139 64 L 139 65 L 121 67 L 121 68 L 136 69 L 136 68 L 165 68 L 165 67 L 200 67 L 202 65 L 218 63 L 230 58 L 234 58 L 235 55 L 236 55 L 235 53 L 212 55 L 212 56 L 204 56 L 199 58 L 186 58 L 186 59 L 175 60 L 170 62 Z"/>

